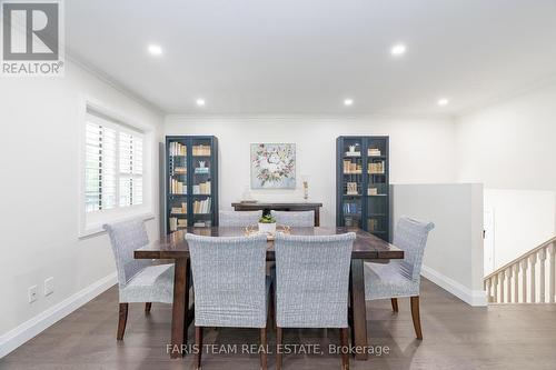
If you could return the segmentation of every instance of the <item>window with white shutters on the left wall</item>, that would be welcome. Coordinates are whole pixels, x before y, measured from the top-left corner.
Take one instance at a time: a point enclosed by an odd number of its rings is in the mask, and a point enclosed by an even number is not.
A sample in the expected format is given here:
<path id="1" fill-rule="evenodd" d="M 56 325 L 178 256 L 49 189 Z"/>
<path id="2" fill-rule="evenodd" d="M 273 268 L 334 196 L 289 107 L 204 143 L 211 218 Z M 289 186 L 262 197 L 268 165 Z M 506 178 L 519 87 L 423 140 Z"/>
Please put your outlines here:
<path id="1" fill-rule="evenodd" d="M 87 108 L 85 229 L 99 229 L 103 222 L 129 217 L 131 210 L 145 206 L 145 132 Z"/>

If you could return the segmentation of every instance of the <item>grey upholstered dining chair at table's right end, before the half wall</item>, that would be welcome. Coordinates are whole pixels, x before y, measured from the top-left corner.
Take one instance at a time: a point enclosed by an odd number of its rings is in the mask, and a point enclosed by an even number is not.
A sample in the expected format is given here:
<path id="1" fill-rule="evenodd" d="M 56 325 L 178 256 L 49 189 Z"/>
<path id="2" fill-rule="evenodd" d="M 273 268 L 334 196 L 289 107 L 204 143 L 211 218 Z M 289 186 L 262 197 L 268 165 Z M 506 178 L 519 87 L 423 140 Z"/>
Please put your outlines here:
<path id="1" fill-rule="evenodd" d="M 365 262 L 365 299 L 391 300 L 394 312 L 398 312 L 398 298 L 410 297 L 411 318 L 417 339 L 423 339 L 419 313 L 420 269 L 433 222 L 421 222 L 403 217 L 396 224 L 394 246 L 404 250 L 403 260 L 387 264 Z"/>

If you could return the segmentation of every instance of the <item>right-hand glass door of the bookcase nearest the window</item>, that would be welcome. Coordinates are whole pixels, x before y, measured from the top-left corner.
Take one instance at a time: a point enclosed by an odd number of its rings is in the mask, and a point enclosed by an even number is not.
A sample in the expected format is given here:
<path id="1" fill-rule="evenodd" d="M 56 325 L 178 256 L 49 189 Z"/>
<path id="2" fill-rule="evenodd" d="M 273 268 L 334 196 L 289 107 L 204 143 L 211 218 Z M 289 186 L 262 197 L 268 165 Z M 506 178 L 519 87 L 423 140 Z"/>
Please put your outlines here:
<path id="1" fill-rule="evenodd" d="M 212 191 L 211 178 L 214 168 L 211 163 L 210 138 L 191 139 L 191 212 L 193 227 L 212 226 Z M 216 154 L 216 153 L 215 153 Z"/>

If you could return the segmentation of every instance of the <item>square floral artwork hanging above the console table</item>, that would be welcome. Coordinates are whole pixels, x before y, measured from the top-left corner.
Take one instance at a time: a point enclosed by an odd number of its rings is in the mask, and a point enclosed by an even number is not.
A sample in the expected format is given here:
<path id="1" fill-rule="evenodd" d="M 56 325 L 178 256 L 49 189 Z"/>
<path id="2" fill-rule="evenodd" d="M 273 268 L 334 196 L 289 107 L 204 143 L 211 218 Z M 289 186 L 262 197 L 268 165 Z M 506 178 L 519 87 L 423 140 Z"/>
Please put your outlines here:
<path id="1" fill-rule="evenodd" d="M 251 144 L 251 189 L 295 189 L 296 144 Z"/>

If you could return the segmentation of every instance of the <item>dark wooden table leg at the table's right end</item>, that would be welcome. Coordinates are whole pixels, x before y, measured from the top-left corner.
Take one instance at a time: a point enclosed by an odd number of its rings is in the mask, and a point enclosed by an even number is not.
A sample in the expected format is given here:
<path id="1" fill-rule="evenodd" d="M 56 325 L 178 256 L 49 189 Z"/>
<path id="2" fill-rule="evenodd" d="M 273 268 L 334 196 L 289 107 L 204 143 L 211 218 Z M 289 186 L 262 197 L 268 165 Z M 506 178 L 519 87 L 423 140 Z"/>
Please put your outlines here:
<path id="1" fill-rule="evenodd" d="M 351 260 L 350 303 L 353 312 L 353 346 L 359 349 L 355 354 L 358 361 L 366 361 L 367 356 L 367 311 L 365 308 L 365 277 L 363 260 Z"/>

